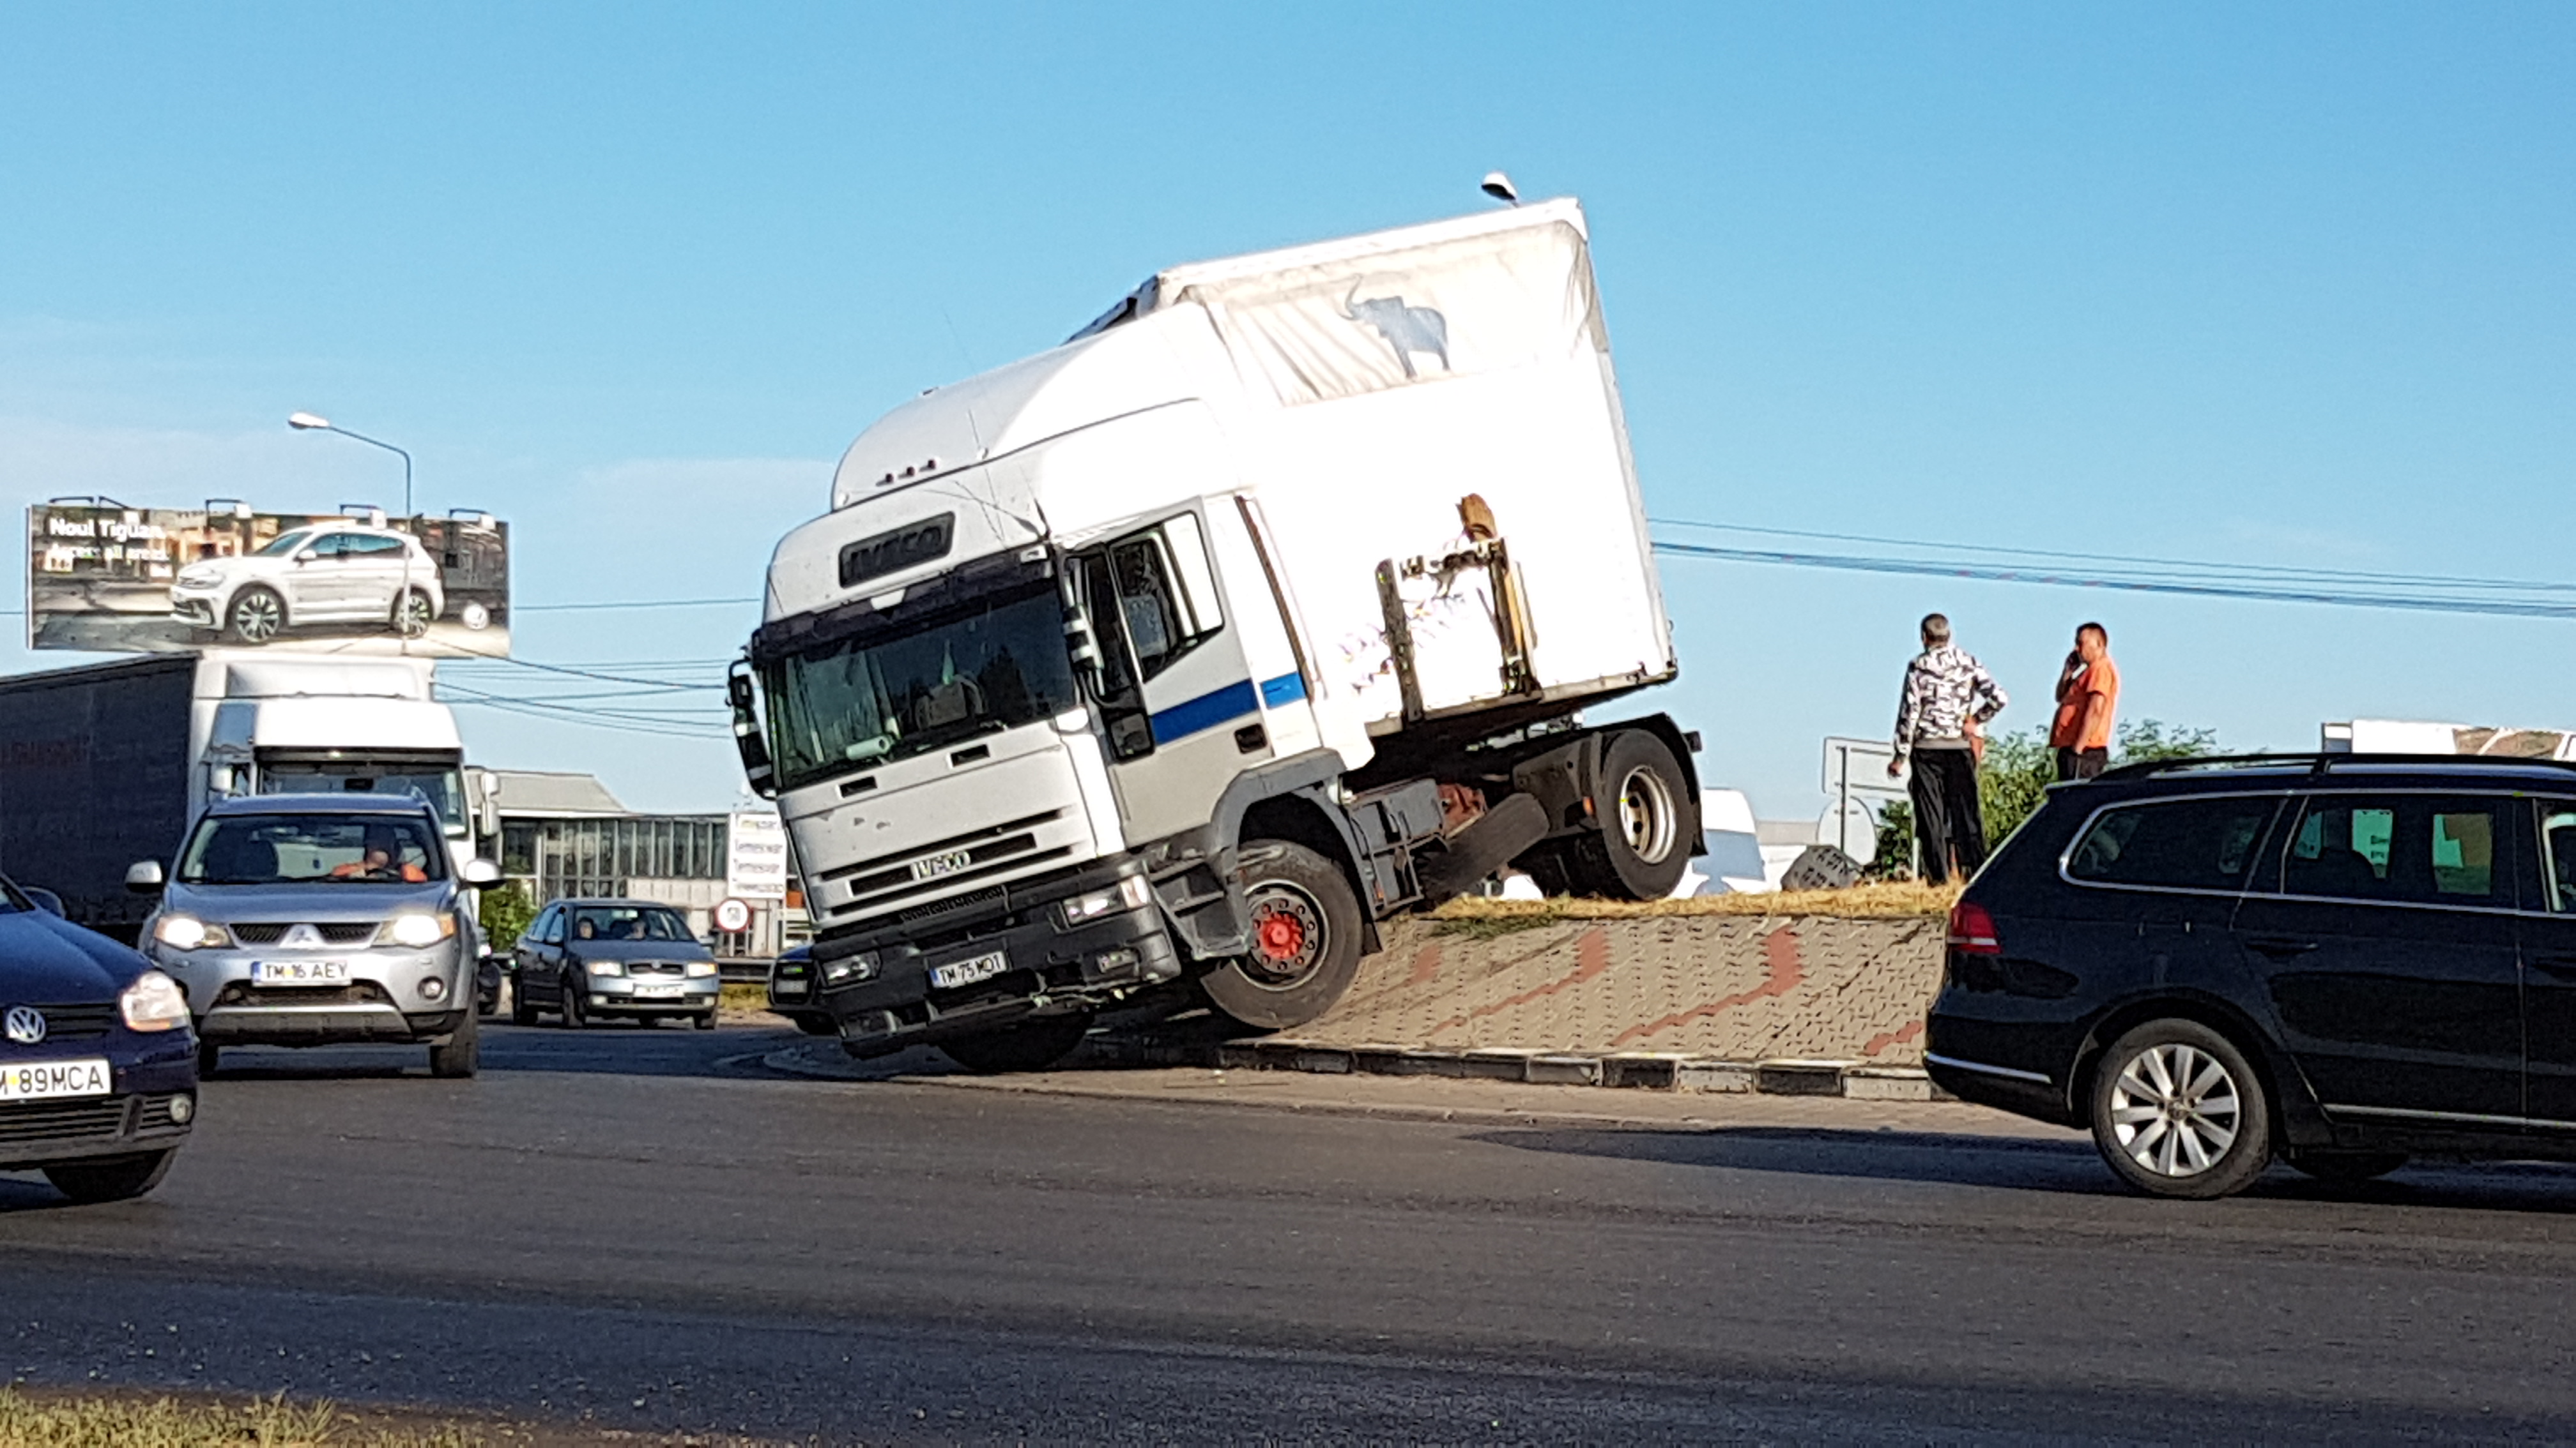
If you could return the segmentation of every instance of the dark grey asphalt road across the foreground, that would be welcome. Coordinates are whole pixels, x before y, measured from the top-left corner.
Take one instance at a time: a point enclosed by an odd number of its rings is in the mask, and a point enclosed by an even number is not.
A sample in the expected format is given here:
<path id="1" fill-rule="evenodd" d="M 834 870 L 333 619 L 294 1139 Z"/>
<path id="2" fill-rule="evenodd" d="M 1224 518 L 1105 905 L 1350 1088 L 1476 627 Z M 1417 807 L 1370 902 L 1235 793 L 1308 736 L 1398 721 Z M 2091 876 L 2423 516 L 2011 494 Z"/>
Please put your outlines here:
<path id="1" fill-rule="evenodd" d="M 2571 1170 L 2182 1206 L 2074 1141 L 742 1062 L 791 1038 L 242 1054 L 152 1198 L 0 1180 L 0 1368 L 832 1443 L 2576 1435 Z"/>

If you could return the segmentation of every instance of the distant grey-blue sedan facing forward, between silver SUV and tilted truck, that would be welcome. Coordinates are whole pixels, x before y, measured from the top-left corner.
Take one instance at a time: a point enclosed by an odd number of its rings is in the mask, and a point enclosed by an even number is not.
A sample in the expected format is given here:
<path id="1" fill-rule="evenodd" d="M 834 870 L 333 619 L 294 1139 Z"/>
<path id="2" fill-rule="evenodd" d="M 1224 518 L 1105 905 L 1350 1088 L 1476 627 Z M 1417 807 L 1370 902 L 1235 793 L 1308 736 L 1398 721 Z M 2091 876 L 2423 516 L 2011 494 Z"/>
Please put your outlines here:
<path id="1" fill-rule="evenodd" d="M 716 1028 L 724 982 L 688 917 L 649 899 L 556 899 L 513 951 L 510 1020 L 562 1013 L 574 1031 L 600 1018 L 690 1020 Z"/>

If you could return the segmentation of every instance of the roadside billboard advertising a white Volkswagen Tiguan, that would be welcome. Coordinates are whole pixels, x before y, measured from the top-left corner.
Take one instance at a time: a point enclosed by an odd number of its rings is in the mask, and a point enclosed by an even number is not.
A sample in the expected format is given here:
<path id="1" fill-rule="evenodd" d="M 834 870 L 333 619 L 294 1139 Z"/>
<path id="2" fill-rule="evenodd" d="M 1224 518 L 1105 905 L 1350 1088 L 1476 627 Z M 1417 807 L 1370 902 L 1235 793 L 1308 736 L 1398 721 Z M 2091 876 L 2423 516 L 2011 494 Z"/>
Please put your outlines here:
<path id="1" fill-rule="evenodd" d="M 26 510 L 31 649 L 510 652 L 510 526 L 492 515 Z"/>

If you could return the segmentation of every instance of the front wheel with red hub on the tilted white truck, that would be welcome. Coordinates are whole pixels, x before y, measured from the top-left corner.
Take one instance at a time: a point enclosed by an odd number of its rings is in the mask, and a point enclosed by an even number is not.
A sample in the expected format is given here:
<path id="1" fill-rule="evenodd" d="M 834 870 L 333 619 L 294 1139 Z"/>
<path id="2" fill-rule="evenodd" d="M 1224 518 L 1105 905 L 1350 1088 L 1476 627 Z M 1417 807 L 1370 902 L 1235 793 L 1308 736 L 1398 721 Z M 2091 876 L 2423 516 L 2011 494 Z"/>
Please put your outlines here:
<path id="1" fill-rule="evenodd" d="M 1332 1010 L 1360 974 L 1360 897 L 1306 845 L 1247 840 L 1244 902 L 1252 951 L 1200 982 L 1216 1010 L 1257 1031 L 1303 1025 Z"/>

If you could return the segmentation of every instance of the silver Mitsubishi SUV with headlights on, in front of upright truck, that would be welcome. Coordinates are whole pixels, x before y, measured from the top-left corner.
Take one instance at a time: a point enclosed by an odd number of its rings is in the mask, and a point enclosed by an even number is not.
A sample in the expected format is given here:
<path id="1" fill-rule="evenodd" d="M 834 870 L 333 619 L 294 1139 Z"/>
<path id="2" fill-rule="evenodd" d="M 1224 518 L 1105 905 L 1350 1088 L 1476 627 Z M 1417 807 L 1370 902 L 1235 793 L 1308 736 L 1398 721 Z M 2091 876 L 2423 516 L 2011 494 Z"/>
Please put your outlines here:
<path id="1" fill-rule="evenodd" d="M 263 794 L 224 799 L 188 832 L 142 946 L 188 992 L 201 1062 L 222 1046 L 430 1046 L 430 1074 L 477 1062 L 477 925 L 438 814 L 417 796 Z"/>

